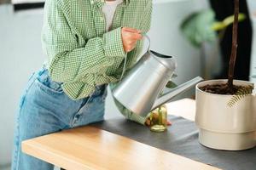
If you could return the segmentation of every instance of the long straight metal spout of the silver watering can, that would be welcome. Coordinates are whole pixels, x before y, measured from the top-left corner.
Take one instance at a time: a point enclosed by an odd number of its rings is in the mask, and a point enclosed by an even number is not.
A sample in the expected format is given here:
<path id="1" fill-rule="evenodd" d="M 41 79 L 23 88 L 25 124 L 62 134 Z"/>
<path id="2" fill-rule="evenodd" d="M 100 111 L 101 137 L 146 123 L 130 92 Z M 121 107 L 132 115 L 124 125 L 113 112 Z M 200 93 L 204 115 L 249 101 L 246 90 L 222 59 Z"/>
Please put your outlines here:
<path id="1" fill-rule="evenodd" d="M 197 84 L 198 82 L 201 82 L 203 79 L 201 77 L 195 77 L 194 79 L 184 82 L 183 84 L 179 85 L 177 88 L 173 88 L 170 92 L 167 92 L 166 94 L 163 94 L 159 99 L 156 99 L 154 102 L 154 105 L 151 109 L 153 111 L 160 105 L 166 104 L 168 101 L 170 101 L 173 97 L 177 96 L 177 94 L 182 94 L 189 88 L 192 88 Z"/>

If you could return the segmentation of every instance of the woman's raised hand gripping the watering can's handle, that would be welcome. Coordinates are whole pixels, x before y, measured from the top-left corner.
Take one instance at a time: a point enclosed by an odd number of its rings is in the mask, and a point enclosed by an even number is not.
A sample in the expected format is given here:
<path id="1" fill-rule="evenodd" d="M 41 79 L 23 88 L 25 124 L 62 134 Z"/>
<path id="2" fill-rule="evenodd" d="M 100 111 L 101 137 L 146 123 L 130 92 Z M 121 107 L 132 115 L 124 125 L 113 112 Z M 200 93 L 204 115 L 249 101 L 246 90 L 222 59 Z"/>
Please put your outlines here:
<path id="1" fill-rule="evenodd" d="M 122 41 L 125 53 L 130 52 L 135 48 L 137 41 L 141 40 L 143 36 L 141 31 L 138 31 L 134 28 L 123 27 L 122 28 Z"/>

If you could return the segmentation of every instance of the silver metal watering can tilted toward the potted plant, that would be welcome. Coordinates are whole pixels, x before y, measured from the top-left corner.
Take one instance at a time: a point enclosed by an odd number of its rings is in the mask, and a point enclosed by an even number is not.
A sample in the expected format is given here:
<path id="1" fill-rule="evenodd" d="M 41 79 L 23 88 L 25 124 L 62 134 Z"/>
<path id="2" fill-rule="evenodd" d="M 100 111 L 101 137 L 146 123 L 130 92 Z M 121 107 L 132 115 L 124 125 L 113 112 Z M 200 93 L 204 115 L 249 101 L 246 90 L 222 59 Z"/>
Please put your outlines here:
<path id="1" fill-rule="evenodd" d="M 150 39 L 147 38 L 150 46 Z M 143 54 L 124 79 L 112 89 L 113 97 L 137 115 L 147 116 L 150 111 L 201 82 L 201 77 L 195 77 L 160 95 L 176 67 L 177 62 L 172 56 L 159 54 L 148 48 L 146 54 Z"/>

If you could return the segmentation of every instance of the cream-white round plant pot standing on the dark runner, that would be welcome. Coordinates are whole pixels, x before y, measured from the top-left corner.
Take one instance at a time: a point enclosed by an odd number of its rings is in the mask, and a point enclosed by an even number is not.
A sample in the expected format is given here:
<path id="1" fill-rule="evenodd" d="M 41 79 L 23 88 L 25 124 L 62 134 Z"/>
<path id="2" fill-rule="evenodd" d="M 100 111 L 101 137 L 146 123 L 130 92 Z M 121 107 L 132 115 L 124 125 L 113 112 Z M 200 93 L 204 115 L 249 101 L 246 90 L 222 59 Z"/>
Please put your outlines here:
<path id="1" fill-rule="evenodd" d="M 256 145 L 256 99 L 248 95 L 232 107 L 232 95 L 209 94 L 199 89 L 207 84 L 225 83 L 210 80 L 196 86 L 195 123 L 199 127 L 199 142 L 218 150 L 246 150 Z M 236 85 L 252 82 L 234 81 Z"/>

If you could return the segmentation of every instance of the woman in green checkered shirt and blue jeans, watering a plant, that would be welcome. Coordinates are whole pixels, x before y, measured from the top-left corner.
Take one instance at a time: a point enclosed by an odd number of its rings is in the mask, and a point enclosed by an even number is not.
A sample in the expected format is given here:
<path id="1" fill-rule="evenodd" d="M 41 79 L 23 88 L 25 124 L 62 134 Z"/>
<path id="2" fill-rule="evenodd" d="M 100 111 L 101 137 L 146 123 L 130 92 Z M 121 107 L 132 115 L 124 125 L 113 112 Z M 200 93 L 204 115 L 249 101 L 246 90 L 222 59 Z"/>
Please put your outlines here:
<path id="1" fill-rule="evenodd" d="M 48 60 L 20 101 L 13 170 L 53 169 L 23 154 L 21 141 L 103 120 L 106 86 L 135 64 L 151 12 L 151 0 L 46 0 L 42 43 Z"/>

